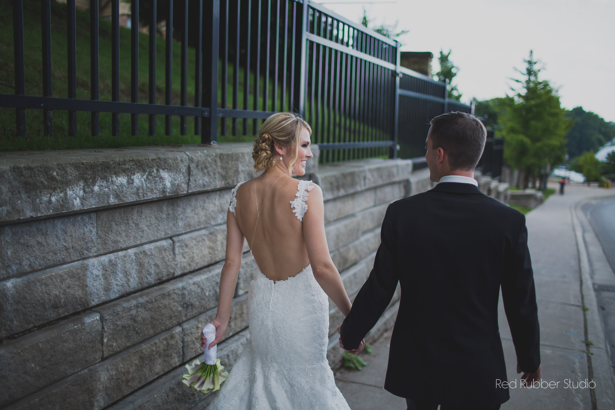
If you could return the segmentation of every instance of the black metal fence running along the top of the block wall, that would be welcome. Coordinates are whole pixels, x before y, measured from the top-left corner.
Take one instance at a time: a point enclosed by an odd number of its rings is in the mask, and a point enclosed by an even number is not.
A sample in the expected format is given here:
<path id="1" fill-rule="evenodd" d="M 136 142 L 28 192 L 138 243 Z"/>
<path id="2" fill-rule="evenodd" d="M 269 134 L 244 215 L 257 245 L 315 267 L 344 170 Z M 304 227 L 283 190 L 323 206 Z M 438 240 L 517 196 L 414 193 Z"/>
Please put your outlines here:
<path id="1" fill-rule="evenodd" d="M 132 0 L 131 102 L 121 102 L 119 1 L 111 0 L 111 101 L 101 100 L 98 91 L 98 0 L 90 0 L 89 100 L 76 98 L 75 0 L 66 2 L 66 97 L 51 92 L 50 0 L 41 0 L 43 92 L 25 95 L 23 0 L 13 1 L 15 94 L 0 94 L 0 107 L 15 108 L 17 135 L 26 135 L 25 109 L 42 110 L 48 136 L 53 135 L 54 110 L 69 112 L 69 135 L 77 133 L 76 112 L 89 111 L 92 135 L 100 134 L 101 112 L 112 113 L 112 135 L 119 135 L 121 114 L 131 116 L 132 135 L 143 132 L 139 115 L 148 115 L 149 135 L 156 135 L 158 115 L 165 116 L 165 134 L 172 132 L 172 116 L 179 116 L 180 134 L 186 135 L 186 118 L 192 116 L 194 134 L 208 144 L 218 135 L 255 135 L 272 113 L 297 111 L 312 124 L 312 141 L 319 144 L 323 162 L 399 156 L 420 163 L 429 120 L 445 112 L 472 111 L 446 97 L 444 82 L 401 67 L 398 42 L 310 0 L 175 0 L 175 7 L 173 0 L 167 0 L 162 11 L 169 33 L 164 104 L 156 103 L 153 29 L 148 50 L 149 103 L 139 102 L 140 5 Z M 161 9 L 156 3 L 144 4 L 149 28 L 159 20 Z M 174 22 L 181 31 L 175 30 L 175 36 Z M 190 73 L 194 75 L 190 78 L 193 103 L 188 102 L 188 44 L 195 54 Z M 180 105 L 172 104 L 173 47 L 181 47 Z"/>

